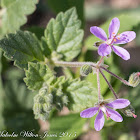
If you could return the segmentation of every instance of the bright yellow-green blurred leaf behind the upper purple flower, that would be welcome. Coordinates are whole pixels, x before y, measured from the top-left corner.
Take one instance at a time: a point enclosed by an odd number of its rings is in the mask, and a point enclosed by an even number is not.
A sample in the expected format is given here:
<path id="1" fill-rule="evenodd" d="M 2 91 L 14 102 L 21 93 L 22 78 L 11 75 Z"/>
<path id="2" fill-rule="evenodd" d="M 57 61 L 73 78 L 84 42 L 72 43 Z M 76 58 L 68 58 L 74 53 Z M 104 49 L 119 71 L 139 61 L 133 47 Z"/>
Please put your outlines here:
<path id="1" fill-rule="evenodd" d="M 126 13 L 121 14 L 116 17 L 119 18 L 119 20 L 120 20 L 119 33 L 132 30 L 132 28 L 134 26 L 136 26 L 140 23 L 140 16 L 137 14 L 131 13 L 131 12 L 130 13 L 127 12 L 127 14 Z M 109 24 L 110 24 L 110 21 L 112 20 L 112 18 L 110 18 L 103 25 L 101 25 L 101 28 L 106 32 L 106 34 L 108 33 L 108 27 L 109 27 Z M 94 43 L 97 41 L 100 41 L 100 39 L 95 37 L 94 35 L 90 35 L 85 41 L 85 46 L 90 50 L 97 49 L 96 47 L 93 46 Z"/>

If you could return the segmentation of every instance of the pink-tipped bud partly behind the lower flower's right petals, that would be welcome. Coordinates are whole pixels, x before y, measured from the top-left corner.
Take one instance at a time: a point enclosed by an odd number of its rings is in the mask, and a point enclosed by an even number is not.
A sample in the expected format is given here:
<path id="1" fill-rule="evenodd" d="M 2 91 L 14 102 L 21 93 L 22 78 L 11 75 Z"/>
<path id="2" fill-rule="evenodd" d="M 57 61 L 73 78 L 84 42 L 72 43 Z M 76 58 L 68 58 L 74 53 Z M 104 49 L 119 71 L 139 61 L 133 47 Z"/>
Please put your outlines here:
<path id="1" fill-rule="evenodd" d="M 135 109 L 132 107 L 132 105 L 129 105 L 126 108 L 121 109 L 121 112 L 127 117 L 134 117 L 134 118 L 137 117 L 137 115 L 135 115 Z"/>

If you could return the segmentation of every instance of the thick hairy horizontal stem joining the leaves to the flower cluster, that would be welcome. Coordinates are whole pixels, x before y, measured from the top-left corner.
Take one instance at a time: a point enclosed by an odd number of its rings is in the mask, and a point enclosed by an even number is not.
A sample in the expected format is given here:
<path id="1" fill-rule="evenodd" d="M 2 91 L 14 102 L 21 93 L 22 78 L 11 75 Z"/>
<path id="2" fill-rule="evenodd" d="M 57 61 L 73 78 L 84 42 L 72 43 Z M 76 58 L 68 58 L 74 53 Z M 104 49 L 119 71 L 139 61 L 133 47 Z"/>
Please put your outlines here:
<path id="1" fill-rule="evenodd" d="M 63 61 L 54 61 L 54 64 L 57 66 L 65 66 L 65 67 L 81 67 L 83 65 L 90 65 L 92 67 L 96 67 L 96 64 L 93 62 L 63 62 Z"/>

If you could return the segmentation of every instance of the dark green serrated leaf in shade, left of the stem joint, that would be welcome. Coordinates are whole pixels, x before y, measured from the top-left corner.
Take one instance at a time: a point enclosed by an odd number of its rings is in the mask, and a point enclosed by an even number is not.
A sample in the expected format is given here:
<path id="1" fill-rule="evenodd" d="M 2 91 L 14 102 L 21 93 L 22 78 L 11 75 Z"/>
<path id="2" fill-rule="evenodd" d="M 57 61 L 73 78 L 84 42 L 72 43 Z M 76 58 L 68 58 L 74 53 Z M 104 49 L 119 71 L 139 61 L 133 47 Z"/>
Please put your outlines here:
<path id="1" fill-rule="evenodd" d="M 30 32 L 18 31 L 8 34 L 0 41 L 4 55 L 20 68 L 27 68 L 30 61 L 43 61 L 41 46 L 36 36 Z"/>

